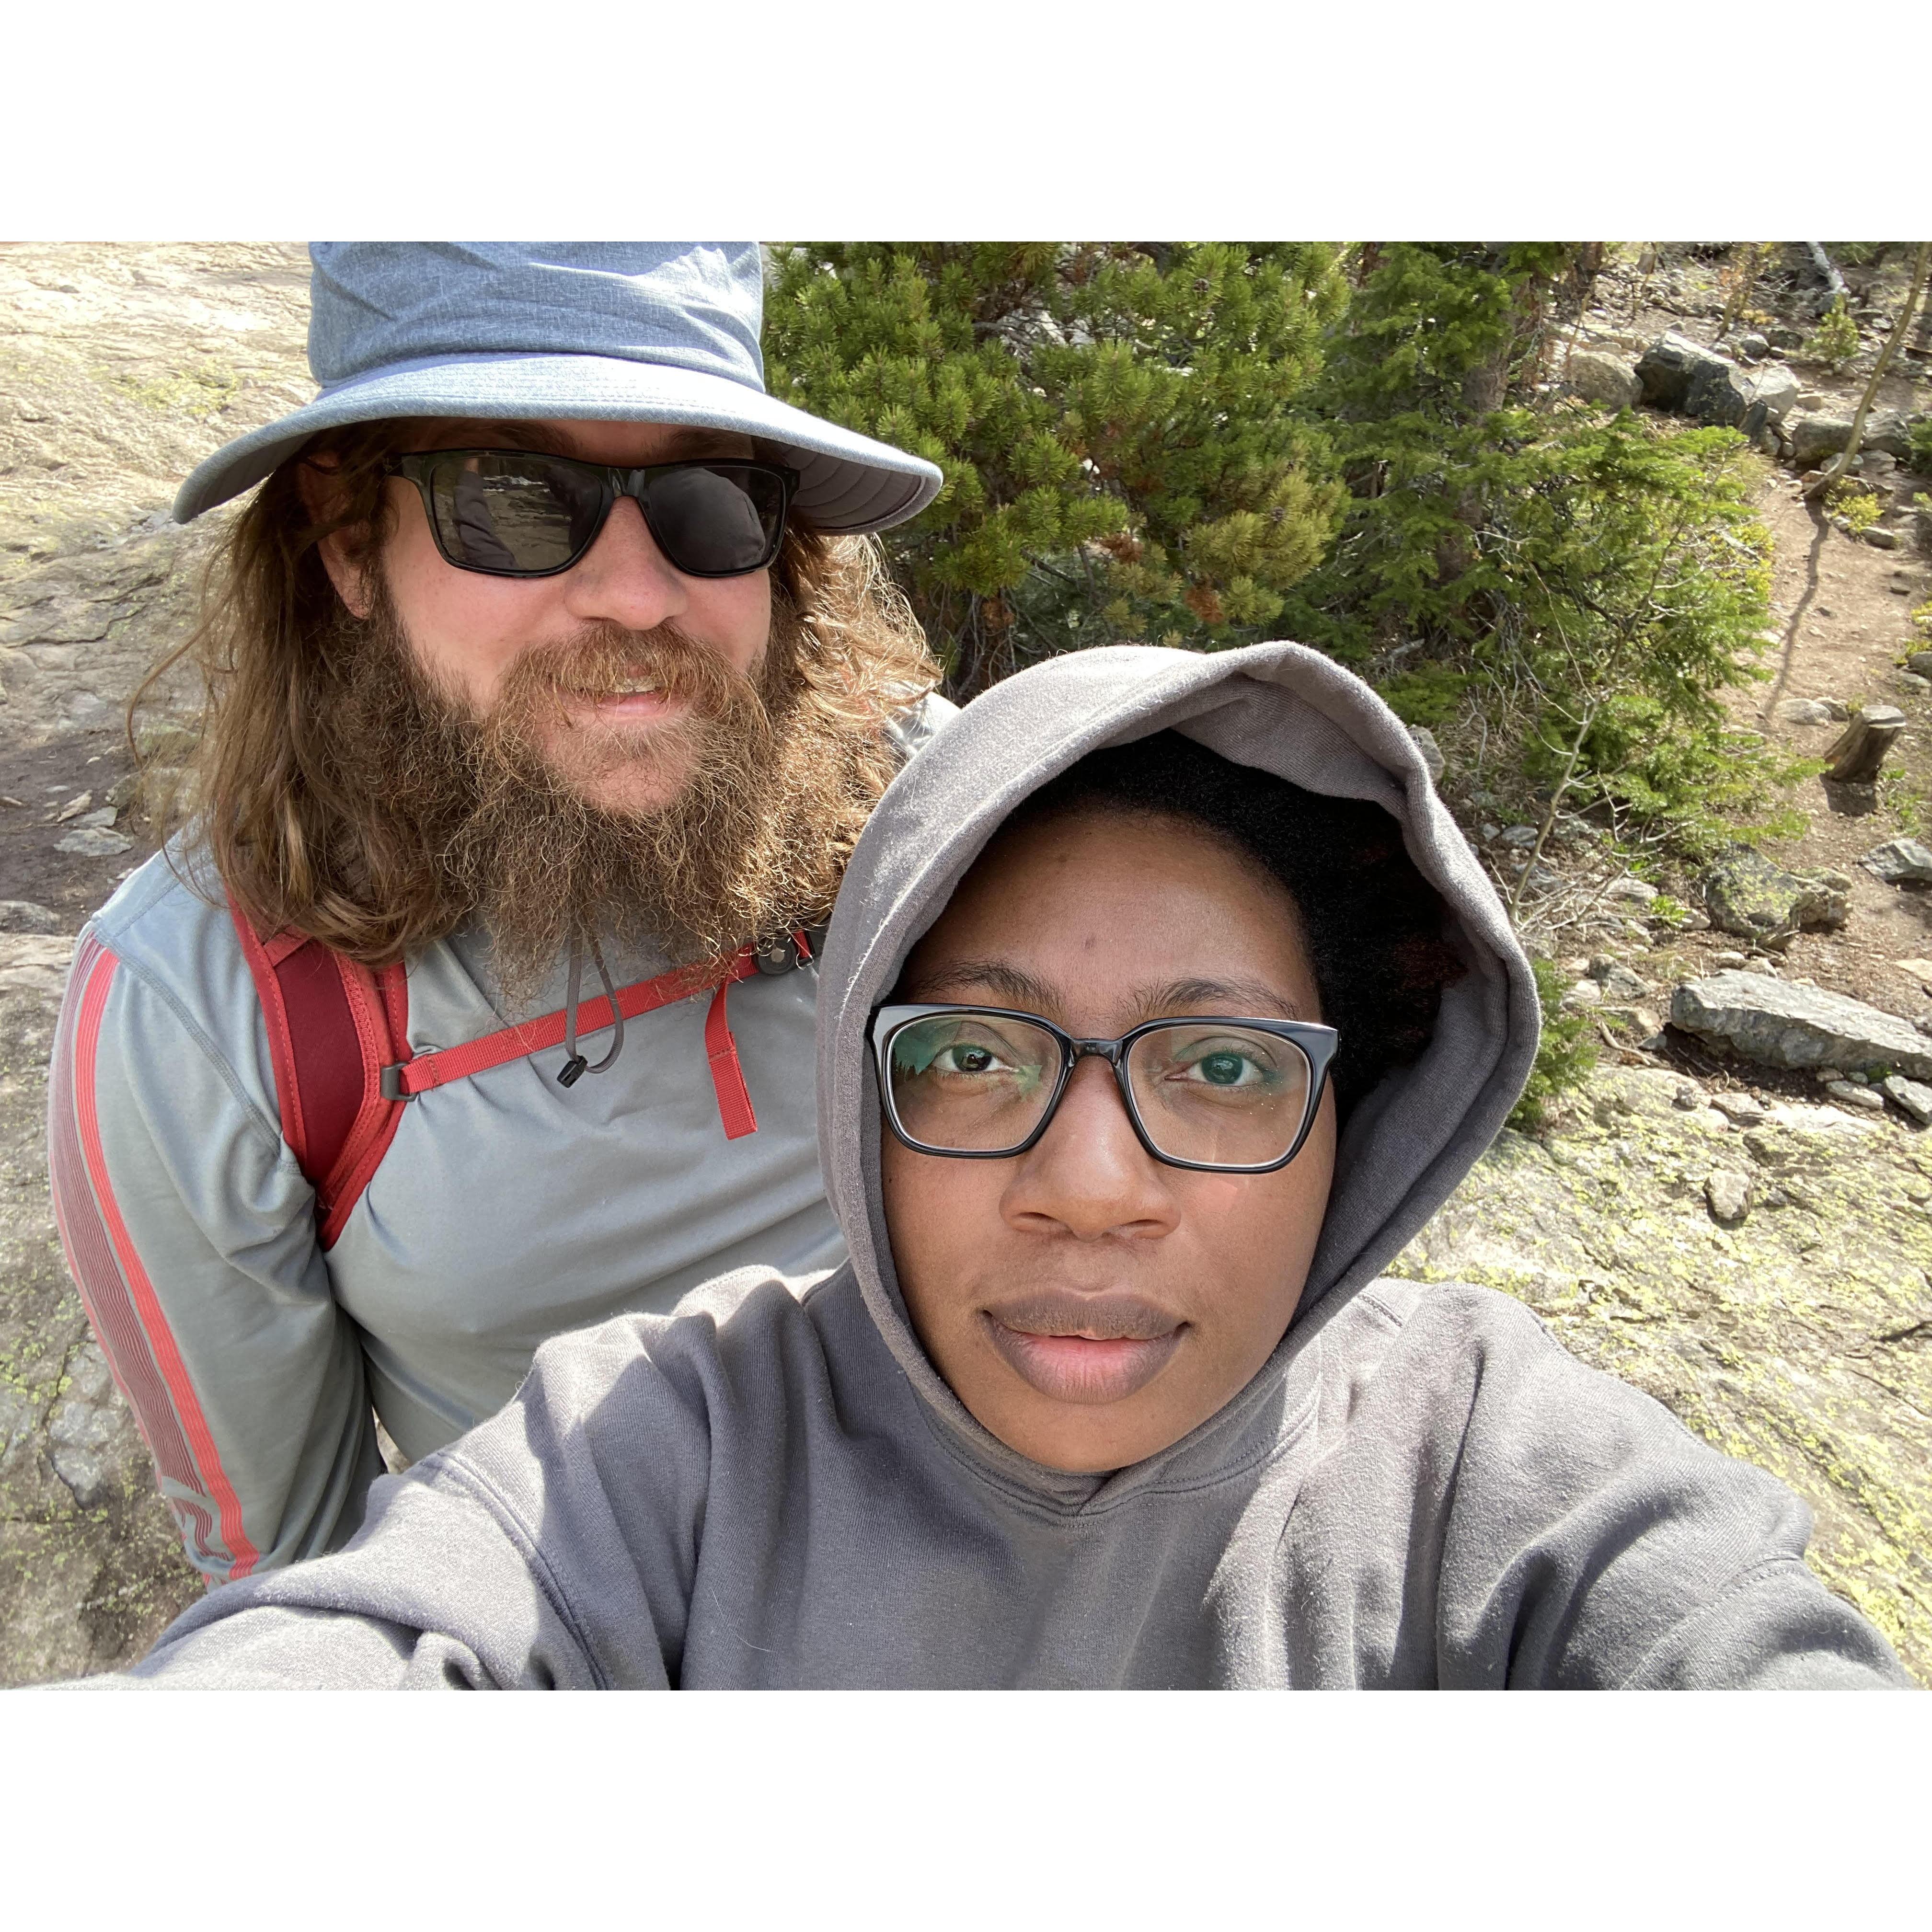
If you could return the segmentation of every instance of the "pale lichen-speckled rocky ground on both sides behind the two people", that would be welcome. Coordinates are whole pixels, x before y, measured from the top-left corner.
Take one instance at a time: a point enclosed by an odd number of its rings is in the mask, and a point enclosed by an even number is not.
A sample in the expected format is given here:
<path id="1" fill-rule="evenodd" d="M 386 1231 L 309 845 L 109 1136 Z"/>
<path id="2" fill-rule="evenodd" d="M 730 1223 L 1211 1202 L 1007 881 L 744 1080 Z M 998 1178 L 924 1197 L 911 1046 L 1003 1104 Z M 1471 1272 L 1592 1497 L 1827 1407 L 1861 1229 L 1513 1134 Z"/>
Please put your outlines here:
<path id="1" fill-rule="evenodd" d="M 1739 723 L 1818 757 L 1839 713 L 1893 705 L 1903 736 L 1868 792 L 1791 786 L 1808 831 L 1766 848 L 1768 881 L 1634 879 L 1600 827 L 1559 823 L 1526 923 L 1604 1063 L 1536 1134 L 1501 1138 L 1399 1271 L 1522 1296 L 1578 1356 L 1789 1482 L 1818 1519 L 1818 1573 L 1932 1685 L 1932 1142 L 1913 1111 L 1922 1090 L 1932 1113 L 1932 1037 L 1913 1032 L 1932 1026 L 1932 964 L 1899 964 L 1932 960 L 1932 887 L 1861 864 L 1932 838 L 1932 684 L 1901 670 L 1932 597 L 1913 506 L 1932 479 L 1868 452 L 1874 543 L 1801 502 L 1793 464 L 1801 423 L 1851 413 L 1897 265 L 1849 270 L 1864 344 L 1835 373 L 1801 354 L 1818 294 L 1803 251 L 1768 261 L 1729 334 L 1725 272 L 1696 249 L 1613 251 L 1569 375 L 1640 390 L 1665 332 L 1735 352 L 1704 371 L 1704 406 L 1777 406 L 1745 421 L 1777 628 Z M 60 1262 L 44 1066 L 73 935 L 153 850 L 120 715 L 185 634 L 213 535 L 174 529 L 168 498 L 309 394 L 305 311 L 294 247 L 0 247 L 0 1683 L 128 1662 L 197 1592 Z M 1932 340 L 1907 350 L 1880 396 L 1899 417 L 1932 402 L 1911 354 Z M 166 686 L 143 732 L 151 790 L 191 717 L 191 690 Z M 1445 796 L 1507 887 L 1522 827 L 1459 786 L 1447 750 Z M 1828 993 L 1872 1018 L 1806 1005 Z M 1795 1018 L 1766 1018 L 1791 1001 Z"/>

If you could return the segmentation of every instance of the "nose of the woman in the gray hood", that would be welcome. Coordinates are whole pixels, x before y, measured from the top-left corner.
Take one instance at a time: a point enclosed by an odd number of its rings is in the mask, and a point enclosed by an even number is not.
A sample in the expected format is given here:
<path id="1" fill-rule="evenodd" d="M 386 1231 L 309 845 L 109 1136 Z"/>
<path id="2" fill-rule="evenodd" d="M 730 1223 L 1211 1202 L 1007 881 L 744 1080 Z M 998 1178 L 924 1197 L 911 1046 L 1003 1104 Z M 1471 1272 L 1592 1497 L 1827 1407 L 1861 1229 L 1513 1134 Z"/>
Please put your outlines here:
<path id="1" fill-rule="evenodd" d="M 1157 1236 L 1180 1219 L 1167 1169 L 1148 1153 L 1126 1117 L 1113 1068 L 1097 1057 L 1074 1066 L 1053 1124 L 1020 1155 L 1003 1196 L 1014 1227 Z"/>

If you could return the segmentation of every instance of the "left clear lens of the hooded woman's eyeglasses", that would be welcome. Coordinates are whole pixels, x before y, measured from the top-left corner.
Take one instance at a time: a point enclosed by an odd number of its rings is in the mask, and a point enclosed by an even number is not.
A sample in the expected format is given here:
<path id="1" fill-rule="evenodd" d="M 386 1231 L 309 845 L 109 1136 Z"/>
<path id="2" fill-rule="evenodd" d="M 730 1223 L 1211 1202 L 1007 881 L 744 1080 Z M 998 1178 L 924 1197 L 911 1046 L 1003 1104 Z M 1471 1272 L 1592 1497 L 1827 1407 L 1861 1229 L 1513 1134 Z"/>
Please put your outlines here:
<path id="1" fill-rule="evenodd" d="M 1061 1074 L 1049 1032 L 993 1012 L 908 1020 L 889 1037 L 885 1059 L 906 1138 L 954 1153 L 1018 1148 L 1039 1126 Z"/>

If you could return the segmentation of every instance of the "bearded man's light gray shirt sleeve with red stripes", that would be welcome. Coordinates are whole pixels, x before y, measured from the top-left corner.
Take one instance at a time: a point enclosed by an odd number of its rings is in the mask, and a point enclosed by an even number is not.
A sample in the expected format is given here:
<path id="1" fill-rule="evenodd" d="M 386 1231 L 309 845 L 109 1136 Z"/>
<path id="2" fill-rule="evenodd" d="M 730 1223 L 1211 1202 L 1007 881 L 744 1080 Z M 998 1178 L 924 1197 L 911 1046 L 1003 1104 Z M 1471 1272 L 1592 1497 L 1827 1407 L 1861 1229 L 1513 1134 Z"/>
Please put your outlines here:
<path id="1" fill-rule="evenodd" d="M 383 1461 L 315 1194 L 209 1028 L 95 929 L 48 1155 L 68 1267 L 189 1561 L 226 1582 L 344 1542 Z"/>

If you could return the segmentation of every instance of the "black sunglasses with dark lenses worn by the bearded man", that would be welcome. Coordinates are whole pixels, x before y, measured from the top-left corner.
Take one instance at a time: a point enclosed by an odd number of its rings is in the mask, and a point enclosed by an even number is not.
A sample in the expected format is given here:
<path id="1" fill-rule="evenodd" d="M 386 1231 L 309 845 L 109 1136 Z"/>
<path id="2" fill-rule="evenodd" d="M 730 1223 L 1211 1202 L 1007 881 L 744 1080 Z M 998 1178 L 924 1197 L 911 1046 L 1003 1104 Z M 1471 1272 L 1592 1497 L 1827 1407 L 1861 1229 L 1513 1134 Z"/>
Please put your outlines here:
<path id="1" fill-rule="evenodd" d="M 636 500 L 672 570 L 742 578 L 779 554 L 798 489 L 796 469 L 736 456 L 624 469 L 535 450 L 417 450 L 384 471 L 415 485 L 442 560 L 491 578 L 570 570 L 618 497 Z"/>

